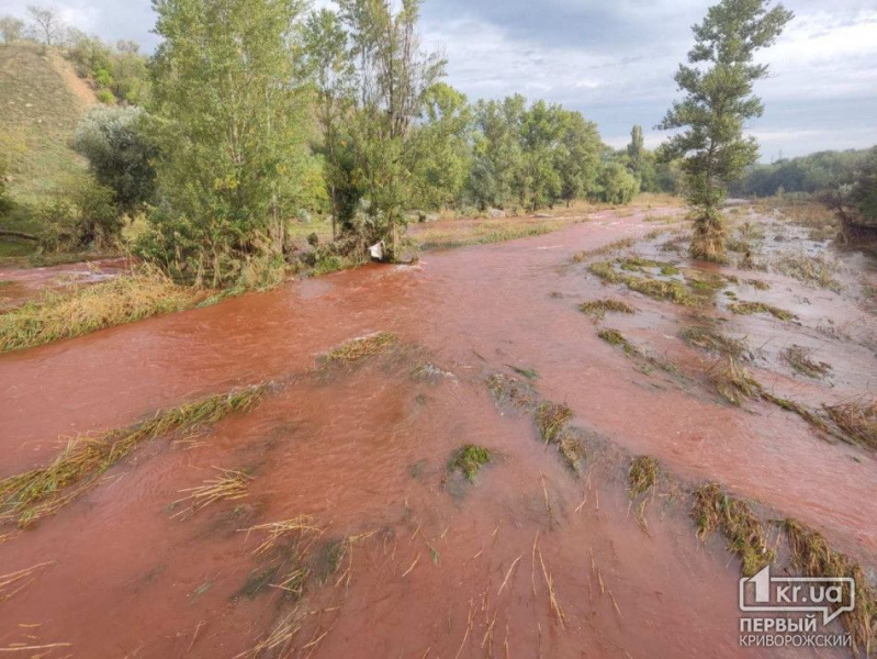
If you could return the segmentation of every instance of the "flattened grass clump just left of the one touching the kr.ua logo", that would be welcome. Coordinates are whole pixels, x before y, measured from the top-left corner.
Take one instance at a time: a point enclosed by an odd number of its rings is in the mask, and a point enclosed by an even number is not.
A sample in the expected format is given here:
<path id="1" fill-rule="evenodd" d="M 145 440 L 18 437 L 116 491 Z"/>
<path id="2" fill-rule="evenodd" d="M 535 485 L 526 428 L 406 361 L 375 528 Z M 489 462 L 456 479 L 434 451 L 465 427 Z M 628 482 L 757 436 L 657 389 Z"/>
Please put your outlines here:
<path id="1" fill-rule="evenodd" d="M 728 549 L 740 557 L 743 574 L 752 577 L 774 561 L 776 552 L 767 546 L 761 520 L 750 505 L 722 492 L 719 483 L 708 483 L 694 493 L 692 516 L 702 540 L 707 534 L 721 530 L 729 540 Z"/>

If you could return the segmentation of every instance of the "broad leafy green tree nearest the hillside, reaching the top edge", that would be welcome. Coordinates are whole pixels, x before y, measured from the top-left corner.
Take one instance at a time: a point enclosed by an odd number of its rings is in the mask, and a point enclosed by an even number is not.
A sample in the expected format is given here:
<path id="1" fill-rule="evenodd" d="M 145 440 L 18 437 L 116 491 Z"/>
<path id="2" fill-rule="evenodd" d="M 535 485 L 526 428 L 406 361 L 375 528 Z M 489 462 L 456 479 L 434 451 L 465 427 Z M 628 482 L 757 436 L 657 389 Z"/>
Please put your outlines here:
<path id="1" fill-rule="evenodd" d="M 153 113 L 165 148 L 153 255 L 214 286 L 277 258 L 301 202 L 307 96 L 296 85 L 300 0 L 154 0 L 164 40 Z M 180 263 L 182 261 L 182 263 Z"/>

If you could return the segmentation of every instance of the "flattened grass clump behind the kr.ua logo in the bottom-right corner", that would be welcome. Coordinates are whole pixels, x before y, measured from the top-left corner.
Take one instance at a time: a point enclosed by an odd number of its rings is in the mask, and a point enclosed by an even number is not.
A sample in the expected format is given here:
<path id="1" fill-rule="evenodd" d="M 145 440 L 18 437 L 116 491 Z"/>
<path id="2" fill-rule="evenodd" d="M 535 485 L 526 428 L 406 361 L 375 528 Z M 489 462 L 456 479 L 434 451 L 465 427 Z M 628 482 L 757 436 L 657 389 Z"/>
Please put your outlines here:
<path id="1" fill-rule="evenodd" d="M 877 593 L 870 587 L 862 566 L 848 556 L 835 551 L 825 537 L 796 520 L 784 523 L 789 539 L 791 565 L 808 577 L 847 577 L 856 584 L 856 605 L 839 617 L 853 640 L 853 652 L 859 648 L 870 657 L 877 626 Z M 846 590 L 846 589 L 844 589 Z M 844 592 L 843 602 L 850 601 Z"/>

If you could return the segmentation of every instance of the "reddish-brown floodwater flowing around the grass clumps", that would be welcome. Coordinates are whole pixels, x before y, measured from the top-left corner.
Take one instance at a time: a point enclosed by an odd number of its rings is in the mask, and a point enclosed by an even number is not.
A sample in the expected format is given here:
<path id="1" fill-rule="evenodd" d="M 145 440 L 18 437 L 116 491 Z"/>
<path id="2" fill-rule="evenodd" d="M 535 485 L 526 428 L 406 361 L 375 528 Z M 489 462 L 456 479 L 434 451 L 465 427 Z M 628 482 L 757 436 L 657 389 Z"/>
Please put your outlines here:
<path id="1" fill-rule="evenodd" d="M 654 228 L 638 215 L 605 214 L 536 238 L 428 253 L 416 267 L 360 268 L 0 357 L 2 476 L 47 462 L 59 436 L 239 384 L 285 382 L 254 412 L 192 442 L 142 447 L 100 487 L 0 546 L 2 573 L 47 563 L 0 602 L 0 647 L 234 657 L 289 624 L 297 634 L 283 647 L 303 657 L 767 654 L 739 647 L 739 563 L 721 539 L 697 540 L 673 501 L 651 502 L 644 530 L 623 463 L 593 456 L 574 476 L 537 439 L 531 417 L 497 406 L 484 386 L 495 372 L 519 377 L 510 367 L 532 369 L 542 399 L 565 401 L 574 423 L 610 446 L 652 455 L 693 482 L 723 482 L 873 565 L 873 456 L 830 445 L 775 407 L 719 403 L 694 376 L 707 359 L 678 339 L 690 311 L 607 290 L 570 264 L 577 250 Z M 719 312 L 729 332 L 768 344 L 754 366 L 764 368 L 760 379 L 813 403 L 873 387 L 873 348 L 814 332 L 822 292 L 771 279 L 769 291 L 741 297 L 777 297 L 803 326 Z M 637 370 L 597 337 L 577 305 L 609 293 L 640 313 L 604 325 L 672 357 L 690 378 Z M 829 303 L 831 313 L 859 317 L 848 298 Z M 374 331 L 414 351 L 308 375 L 321 353 Z M 790 333 L 818 343 L 834 367 L 831 387 L 766 368 L 779 349 L 769 342 Z M 413 378 L 425 360 L 443 373 Z M 497 456 L 474 483 L 447 470 L 470 443 Z M 175 517 L 180 490 L 215 468 L 249 470 L 248 495 Z M 317 554 L 357 539 L 299 601 L 277 578 L 248 589 L 270 561 L 254 554 L 263 532 L 246 529 L 300 515 L 317 529 L 308 535 Z"/>

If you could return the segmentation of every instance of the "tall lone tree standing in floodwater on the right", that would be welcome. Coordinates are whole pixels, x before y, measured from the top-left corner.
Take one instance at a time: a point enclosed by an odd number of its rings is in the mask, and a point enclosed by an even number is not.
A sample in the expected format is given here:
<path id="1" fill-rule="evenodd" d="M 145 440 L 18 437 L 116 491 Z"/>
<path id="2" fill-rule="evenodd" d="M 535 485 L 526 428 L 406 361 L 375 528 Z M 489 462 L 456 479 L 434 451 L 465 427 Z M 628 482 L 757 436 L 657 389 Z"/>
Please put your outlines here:
<path id="1" fill-rule="evenodd" d="M 694 210 L 692 256 L 696 258 L 723 258 L 720 206 L 727 186 L 757 159 L 757 143 L 743 136 L 743 126 L 764 111 L 752 86 L 767 76 L 767 65 L 753 59 L 794 16 L 782 4 L 768 7 L 769 0 L 721 0 L 709 8 L 704 22 L 693 27 L 689 64 L 681 64 L 675 76 L 685 97 L 673 103 L 657 126 L 683 129 L 662 145 L 661 157 L 682 159 Z"/>

